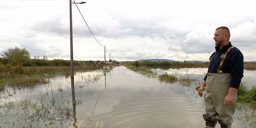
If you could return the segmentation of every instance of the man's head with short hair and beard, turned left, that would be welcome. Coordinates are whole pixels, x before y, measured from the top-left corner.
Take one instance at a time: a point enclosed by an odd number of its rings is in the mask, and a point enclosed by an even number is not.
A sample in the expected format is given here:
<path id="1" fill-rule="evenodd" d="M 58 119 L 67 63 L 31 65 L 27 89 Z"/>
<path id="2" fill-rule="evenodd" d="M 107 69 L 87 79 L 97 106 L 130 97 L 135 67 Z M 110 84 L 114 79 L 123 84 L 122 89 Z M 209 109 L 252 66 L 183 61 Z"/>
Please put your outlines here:
<path id="1" fill-rule="evenodd" d="M 230 32 L 228 27 L 218 27 L 215 30 L 214 38 L 215 45 L 222 48 L 222 46 L 228 45 L 230 38 Z"/>

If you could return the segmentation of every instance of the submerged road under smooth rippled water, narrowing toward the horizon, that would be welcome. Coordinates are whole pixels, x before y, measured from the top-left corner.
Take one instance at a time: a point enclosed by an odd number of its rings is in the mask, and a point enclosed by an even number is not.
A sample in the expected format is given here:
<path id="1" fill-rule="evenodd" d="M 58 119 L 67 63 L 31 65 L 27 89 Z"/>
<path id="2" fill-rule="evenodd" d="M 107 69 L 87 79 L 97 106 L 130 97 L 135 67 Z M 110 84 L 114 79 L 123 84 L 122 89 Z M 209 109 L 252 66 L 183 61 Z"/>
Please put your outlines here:
<path id="1" fill-rule="evenodd" d="M 165 84 L 126 67 L 115 67 L 105 78 L 76 90 L 78 127 L 204 127 L 203 102 L 178 83 Z M 217 124 L 216 127 L 220 127 Z M 232 127 L 244 127 L 235 120 Z"/>

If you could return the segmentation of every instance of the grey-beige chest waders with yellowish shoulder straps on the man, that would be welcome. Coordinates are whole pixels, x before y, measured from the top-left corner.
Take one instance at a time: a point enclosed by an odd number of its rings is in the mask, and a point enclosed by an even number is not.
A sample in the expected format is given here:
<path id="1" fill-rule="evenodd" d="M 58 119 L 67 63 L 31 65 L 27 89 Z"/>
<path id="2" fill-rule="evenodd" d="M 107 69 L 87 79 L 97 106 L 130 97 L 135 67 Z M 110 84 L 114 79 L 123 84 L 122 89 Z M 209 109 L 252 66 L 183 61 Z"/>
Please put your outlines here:
<path id="1" fill-rule="evenodd" d="M 204 120 L 206 121 L 206 127 L 215 127 L 217 121 L 221 127 L 231 127 L 233 122 L 232 116 L 235 112 L 235 102 L 237 96 L 235 96 L 233 104 L 224 106 L 224 100 L 230 87 L 231 74 L 223 73 L 221 71 L 225 57 L 232 48 L 233 47 L 230 47 L 229 50 L 222 56 L 219 68 L 217 69 L 218 73 L 207 73 L 207 88 L 204 95 L 205 114 L 203 115 Z"/>

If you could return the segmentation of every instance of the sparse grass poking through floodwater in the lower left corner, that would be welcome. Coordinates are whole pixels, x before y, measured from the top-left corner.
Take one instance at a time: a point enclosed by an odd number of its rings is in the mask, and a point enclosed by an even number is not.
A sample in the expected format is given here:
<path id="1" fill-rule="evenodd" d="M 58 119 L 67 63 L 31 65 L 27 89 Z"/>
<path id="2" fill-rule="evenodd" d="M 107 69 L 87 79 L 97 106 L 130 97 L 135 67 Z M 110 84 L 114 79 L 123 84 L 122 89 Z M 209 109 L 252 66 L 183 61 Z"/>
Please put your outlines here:
<path id="1" fill-rule="evenodd" d="M 0 108 L 3 110 L 0 112 L 1 117 L 9 114 L 12 115 L 15 114 L 13 112 L 16 112 L 15 118 L 11 119 L 12 122 L 6 121 L 4 126 L 53 127 L 72 120 L 73 109 L 71 99 L 63 99 L 61 97 L 57 101 L 54 96 L 47 91 L 40 93 L 38 97 L 27 95 L 27 99 L 19 102 L 4 102 L 4 104 L 0 104 Z"/>

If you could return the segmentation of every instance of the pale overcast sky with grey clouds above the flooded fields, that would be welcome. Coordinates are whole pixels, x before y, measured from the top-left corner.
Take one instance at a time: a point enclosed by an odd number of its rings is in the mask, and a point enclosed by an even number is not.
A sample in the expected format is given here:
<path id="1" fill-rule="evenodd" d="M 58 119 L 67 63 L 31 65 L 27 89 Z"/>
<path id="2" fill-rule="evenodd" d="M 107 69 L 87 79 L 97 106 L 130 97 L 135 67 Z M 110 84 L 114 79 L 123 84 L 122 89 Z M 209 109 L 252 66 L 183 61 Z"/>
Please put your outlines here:
<path id="1" fill-rule="evenodd" d="M 256 61 L 256 1 L 86 2 L 78 7 L 114 60 L 207 61 L 215 28 L 227 26 L 244 60 Z M 104 60 L 75 4 L 72 11 L 74 59 Z M 68 0 L 1 0 L 0 19 L 1 53 L 17 46 L 31 57 L 70 59 Z"/>

